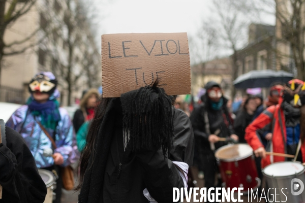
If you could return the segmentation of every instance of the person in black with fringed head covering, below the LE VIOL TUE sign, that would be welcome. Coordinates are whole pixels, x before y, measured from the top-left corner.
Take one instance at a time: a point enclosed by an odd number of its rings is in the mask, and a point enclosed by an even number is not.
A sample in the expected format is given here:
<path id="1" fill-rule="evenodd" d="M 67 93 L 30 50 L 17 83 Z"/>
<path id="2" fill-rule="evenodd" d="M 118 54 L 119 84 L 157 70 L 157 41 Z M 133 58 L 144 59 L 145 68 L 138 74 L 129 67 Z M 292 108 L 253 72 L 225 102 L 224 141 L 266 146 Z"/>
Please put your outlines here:
<path id="1" fill-rule="evenodd" d="M 80 159 L 79 203 L 172 202 L 193 161 L 189 117 L 155 83 L 103 98 Z"/>

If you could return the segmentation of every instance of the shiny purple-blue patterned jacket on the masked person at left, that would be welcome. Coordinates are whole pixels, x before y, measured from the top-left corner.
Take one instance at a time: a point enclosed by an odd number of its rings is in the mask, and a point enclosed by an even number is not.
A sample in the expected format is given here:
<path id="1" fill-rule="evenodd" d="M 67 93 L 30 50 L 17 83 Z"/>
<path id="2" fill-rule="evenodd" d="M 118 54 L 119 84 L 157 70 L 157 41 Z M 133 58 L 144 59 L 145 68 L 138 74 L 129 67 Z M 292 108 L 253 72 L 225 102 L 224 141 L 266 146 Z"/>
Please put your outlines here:
<path id="1" fill-rule="evenodd" d="M 60 121 L 58 122 L 55 133 L 57 148 L 54 150 L 54 153 L 58 152 L 62 154 L 64 157 L 64 164 L 61 166 L 67 166 L 77 161 L 79 152 L 76 146 L 75 132 L 68 112 L 64 108 L 59 108 L 59 113 Z M 39 116 L 37 116 L 36 119 L 41 121 Z M 44 153 L 50 151 L 52 143 L 40 128 L 39 124 L 34 120 L 32 114 L 28 111 L 27 105 L 23 105 L 17 109 L 6 125 L 18 131 L 24 138 L 35 158 L 38 168 L 45 168 L 54 164 L 53 158 Z M 32 130 L 33 134 L 31 136 Z M 54 131 L 50 129 L 47 130 L 50 136 L 52 136 Z"/>

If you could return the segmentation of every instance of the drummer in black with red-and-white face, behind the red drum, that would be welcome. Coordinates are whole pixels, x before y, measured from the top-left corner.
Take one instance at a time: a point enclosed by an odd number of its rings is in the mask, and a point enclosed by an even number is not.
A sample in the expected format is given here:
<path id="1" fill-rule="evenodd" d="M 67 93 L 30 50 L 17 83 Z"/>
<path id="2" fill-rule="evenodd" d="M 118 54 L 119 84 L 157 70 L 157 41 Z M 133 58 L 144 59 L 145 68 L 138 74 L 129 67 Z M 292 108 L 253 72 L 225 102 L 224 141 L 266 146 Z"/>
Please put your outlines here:
<path id="1" fill-rule="evenodd" d="M 210 81 L 204 88 L 206 94 L 202 96 L 203 103 L 194 109 L 190 119 L 194 129 L 198 169 L 203 171 L 205 187 L 208 190 L 215 187 L 215 175 L 218 171 L 214 152 L 228 144 L 219 142 L 219 138 L 238 140 L 238 137 L 226 107 L 228 100 L 223 96 L 220 85 Z"/>

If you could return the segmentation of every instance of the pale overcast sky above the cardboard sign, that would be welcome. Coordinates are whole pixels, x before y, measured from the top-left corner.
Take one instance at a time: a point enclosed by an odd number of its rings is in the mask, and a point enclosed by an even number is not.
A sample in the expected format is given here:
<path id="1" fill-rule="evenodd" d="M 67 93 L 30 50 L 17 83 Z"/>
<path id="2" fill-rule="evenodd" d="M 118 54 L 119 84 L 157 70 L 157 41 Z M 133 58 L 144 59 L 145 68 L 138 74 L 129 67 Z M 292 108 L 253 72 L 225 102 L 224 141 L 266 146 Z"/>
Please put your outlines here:
<path id="1" fill-rule="evenodd" d="M 100 18 L 98 36 L 106 33 L 187 32 L 190 39 L 197 35 L 203 19 L 216 15 L 211 0 L 94 1 Z M 263 16 L 262 19 L 264 23 L 275 24 L 272 17 Z"/>

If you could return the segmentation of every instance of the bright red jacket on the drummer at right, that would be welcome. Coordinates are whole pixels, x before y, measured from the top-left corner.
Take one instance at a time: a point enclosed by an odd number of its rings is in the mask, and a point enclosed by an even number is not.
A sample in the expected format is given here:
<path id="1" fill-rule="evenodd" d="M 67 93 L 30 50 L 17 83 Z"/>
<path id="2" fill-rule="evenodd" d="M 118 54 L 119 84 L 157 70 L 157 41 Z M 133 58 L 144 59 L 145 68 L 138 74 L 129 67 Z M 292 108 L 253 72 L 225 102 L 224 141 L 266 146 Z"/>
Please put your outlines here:
<path id="1" fill-rule="evenodd" d="M 247 143 L 253 148 L 253 150 L 259 147 L 264 147 L 261 143 L 257 130 L 264 128 L 270 122 L 273 127 L 272 145 L 273 152 L 286 153 L 286 127 L 285 116 L 281 105 L 268 107 L 263 113 L 261 113 L 247 128 L 245 139 Z M 305 142 L 301 145 L 302 162 L 305 162 Z M 273 162 L 285 161 L 285 157 L 273 156 Z M 262 168 L 271 163 L 270 156 L 262 159 Z"/>

